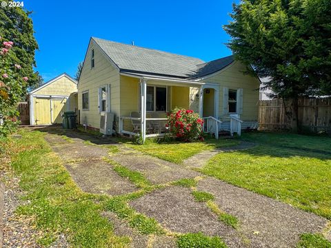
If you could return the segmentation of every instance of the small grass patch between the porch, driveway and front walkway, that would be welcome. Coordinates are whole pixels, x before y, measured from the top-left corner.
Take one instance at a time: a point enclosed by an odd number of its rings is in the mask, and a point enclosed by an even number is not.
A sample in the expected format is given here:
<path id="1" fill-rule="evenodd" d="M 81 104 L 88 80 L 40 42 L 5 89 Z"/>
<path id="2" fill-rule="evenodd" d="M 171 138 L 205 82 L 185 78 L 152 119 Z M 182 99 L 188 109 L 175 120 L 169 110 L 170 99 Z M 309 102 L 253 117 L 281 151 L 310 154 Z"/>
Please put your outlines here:
<path id="1" fill-rule="evenodd" d="M 220 138 L 219 140 L 214 138 L 205 138 L 205 141 L 197 141 L 192 143 L 183 143 L 179 141 L 158 143 L 154 140 L 148 139 L 143 145 L 137 145 L 134 143 L 126 143 L 126 145 L 133 149 L 137 149 L 139 152 L 149 154 L 150 156 L 155 156 L 172 163 L 181 164 L 185 161 L 185 159 L 190 158 L 199 152 L 238 145 L 239 143 L 240 141 L 236 139 L 228 140 L 223 138 Z"/>

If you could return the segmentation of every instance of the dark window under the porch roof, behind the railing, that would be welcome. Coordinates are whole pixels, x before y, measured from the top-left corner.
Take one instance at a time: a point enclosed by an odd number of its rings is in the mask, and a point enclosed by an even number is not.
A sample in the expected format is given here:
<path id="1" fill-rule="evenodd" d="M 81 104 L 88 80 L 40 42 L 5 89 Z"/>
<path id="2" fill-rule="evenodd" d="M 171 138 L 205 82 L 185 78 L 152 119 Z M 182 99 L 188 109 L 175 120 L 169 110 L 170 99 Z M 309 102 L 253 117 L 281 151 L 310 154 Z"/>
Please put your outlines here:
<path id="1" fill-rule="evenodd" d="M 167 87 L 146 87 L 146 111 L 167 111 Z"/>

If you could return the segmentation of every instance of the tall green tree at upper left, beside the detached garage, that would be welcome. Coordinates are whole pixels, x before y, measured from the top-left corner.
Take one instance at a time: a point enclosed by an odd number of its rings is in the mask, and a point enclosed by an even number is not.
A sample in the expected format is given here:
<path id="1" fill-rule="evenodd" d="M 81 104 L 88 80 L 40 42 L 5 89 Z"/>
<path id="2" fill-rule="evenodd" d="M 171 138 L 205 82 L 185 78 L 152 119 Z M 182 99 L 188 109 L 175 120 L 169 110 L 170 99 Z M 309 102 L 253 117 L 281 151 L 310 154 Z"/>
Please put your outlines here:
<path id="1" fill-rule="evenodd" d="M 2 0 L 9 2 L 8 0 Z M 28 77 L 27 87 L 36 87 L 42 81 L 38 72 L 34 72 L 36 66 L 34 52 L 38 49 L 31 12 L 20 7 L 0 8 L 0 36 L 3 40 L 12 41 L 12 57 L 14 63 L 21 65 L 21 75 Z"/>

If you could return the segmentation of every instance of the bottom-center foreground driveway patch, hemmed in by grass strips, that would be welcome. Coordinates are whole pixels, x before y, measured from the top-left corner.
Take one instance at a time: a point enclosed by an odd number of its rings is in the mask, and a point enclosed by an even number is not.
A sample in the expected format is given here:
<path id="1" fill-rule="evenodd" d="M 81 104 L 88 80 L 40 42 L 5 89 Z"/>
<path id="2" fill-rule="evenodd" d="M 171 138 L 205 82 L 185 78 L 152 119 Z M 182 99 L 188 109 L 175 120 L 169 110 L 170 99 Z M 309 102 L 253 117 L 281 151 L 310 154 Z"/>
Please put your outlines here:
<path id="1" fill-rule="evenodd" d="M 130 206 L 155 218 L 163 227 L 177 233 L 219 236 L 229 247 L 245 247 L 237 231 L 217 220 L 205 203 L 197 203 L 184 187 L 168 187 L 130 202 Z"/>

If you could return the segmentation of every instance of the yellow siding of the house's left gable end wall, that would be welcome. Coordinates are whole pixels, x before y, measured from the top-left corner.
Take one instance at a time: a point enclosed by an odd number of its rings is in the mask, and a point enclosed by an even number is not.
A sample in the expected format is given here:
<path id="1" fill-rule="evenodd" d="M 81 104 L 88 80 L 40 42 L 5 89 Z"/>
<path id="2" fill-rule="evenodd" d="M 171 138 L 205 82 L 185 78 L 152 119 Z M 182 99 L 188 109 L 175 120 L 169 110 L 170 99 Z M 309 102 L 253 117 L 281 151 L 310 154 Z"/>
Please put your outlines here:
<path id="1" fill-rule="evenodd" d="M 90 62 L 92 48 L 94 48 L 93 69 L 91 69 Z M 100 128 L 99 87 L 103 85 L 110 85 L 110 112 L 114 113 L 116 118 L 120 114 L 119 70 L 110 63 L 106 54 L 91 41 L 78 85 L 78 108 L 82 124 L 86 122 L 91 127 Z M 89 110 L 82 110 L 81 94 L 86 90 L 89 92 Z"/>

